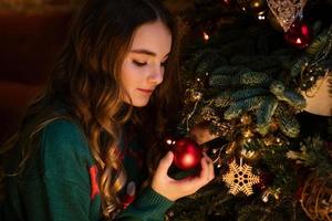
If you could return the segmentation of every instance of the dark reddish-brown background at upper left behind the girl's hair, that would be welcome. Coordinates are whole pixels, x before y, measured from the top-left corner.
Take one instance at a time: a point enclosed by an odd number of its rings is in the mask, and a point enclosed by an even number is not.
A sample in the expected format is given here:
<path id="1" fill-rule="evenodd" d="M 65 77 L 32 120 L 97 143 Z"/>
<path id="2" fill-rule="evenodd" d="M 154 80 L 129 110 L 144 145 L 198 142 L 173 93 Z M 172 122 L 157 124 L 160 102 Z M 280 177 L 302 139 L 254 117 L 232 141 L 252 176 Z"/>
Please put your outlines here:
<path id="1" fill-rule="evenodd" d="M 22 2 L 0 1 L 0 144 L 45 85 L 75 11 L 63 0 Z"/>

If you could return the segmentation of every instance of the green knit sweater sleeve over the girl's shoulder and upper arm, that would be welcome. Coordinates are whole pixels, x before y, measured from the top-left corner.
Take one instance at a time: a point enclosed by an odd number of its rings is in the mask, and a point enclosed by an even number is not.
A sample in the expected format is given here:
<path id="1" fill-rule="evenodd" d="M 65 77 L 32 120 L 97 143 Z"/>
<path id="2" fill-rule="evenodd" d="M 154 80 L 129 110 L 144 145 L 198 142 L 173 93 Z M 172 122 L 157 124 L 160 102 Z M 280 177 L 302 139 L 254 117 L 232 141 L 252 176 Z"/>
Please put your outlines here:
<path id="1" fill-rule="evenodd" d="M 80 128 L 68 120 L 48 125 L 24 196 L 29 220 L 97 220 L 91 214 L 90 151 Z M 35 172 L 39 171 L 39 172 Z"/>

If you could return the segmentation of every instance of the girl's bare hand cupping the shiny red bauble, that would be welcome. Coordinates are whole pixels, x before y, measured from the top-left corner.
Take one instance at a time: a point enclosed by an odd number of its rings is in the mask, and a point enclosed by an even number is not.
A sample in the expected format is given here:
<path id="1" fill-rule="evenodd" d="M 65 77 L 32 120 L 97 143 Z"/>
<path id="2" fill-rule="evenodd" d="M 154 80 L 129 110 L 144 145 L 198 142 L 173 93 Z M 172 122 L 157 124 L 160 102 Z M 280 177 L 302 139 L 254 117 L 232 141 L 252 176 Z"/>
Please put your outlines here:
<path id="1" fill-rule="evenodd" d="M 168 168 L 173 162 L 173 152 L 168 151 L 167 155 L 159 161 L 152 181 L 152 188 L 172 201 L 195 193 L 198 189 L 215 178 L 214 164 L 211 159 L 204 154 L 204 157 L 200 160 L 201 170 L 197 177 L 175 180 L 167 175 Z"/>

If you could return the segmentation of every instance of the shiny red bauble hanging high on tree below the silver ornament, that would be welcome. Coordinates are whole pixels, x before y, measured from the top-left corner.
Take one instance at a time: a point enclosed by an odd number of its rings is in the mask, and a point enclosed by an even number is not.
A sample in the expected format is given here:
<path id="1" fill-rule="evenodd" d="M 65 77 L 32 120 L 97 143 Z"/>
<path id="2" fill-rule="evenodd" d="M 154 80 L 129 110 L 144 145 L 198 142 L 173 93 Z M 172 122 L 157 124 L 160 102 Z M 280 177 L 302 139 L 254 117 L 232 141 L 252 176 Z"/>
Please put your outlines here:
<path id="1" fill-rule="evenodd" d="M 284 39 L 292 46 L 304 49 L 312 41 L 312 32 L 304 22 L 297 20 L 286 32 Z"/>

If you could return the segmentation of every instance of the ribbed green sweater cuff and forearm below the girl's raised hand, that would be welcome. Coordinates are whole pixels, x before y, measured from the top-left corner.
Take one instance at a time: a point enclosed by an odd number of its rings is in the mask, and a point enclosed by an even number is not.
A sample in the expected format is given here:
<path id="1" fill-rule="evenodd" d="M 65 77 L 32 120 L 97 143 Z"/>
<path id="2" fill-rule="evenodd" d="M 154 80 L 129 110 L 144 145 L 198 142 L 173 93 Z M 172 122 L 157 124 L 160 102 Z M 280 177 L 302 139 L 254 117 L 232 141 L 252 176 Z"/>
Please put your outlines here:
<path id="1" fill-rule="evenodd" d="M 115 220 L 163 221 L 166 210 L 168 210 L 173 203 L 173 201 L 157 193 L 151 187 L 147 187 Z"/>

